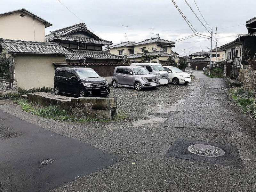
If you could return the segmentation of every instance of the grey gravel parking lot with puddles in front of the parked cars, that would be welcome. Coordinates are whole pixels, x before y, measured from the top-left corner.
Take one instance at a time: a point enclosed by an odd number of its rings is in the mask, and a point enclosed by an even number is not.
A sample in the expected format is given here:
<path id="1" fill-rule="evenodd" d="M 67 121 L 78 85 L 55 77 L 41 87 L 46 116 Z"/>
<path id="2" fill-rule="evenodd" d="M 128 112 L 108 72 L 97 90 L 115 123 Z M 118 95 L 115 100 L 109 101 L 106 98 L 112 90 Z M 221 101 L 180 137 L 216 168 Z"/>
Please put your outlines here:
<path id="1" fill-rule="evenodd" d="M 168 118 L 168 112 L 175 111 L 175 105 L 186 99 L 192 91 L 196 80 L 184 85 L 168 84 L 161 85 L 156 89 L 143 89 L 136 91 L 132 88 L 110 87 L 108 97 L 117 97 L 117 108 L 119 114 L 126 116 L 125 120 L 110 121 L 107 123 L 91 122 L 86 125 L 98 126 L 135 126 L 147 123 L 162 122 Z M 170 115 L 170 114 L 169 114 Z"/>

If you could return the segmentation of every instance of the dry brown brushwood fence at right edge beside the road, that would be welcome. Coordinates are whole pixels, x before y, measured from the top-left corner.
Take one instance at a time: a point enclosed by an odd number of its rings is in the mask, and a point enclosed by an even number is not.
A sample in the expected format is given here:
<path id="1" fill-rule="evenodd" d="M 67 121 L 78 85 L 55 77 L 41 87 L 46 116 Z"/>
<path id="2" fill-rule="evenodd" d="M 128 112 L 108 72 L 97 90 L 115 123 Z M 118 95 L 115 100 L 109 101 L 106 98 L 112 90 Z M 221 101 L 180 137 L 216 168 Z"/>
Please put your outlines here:
<path id="1" fill-rule="evenodd" d="M 240 69 L 237 80 L 243 87 L 256 91 L 256 71 L 249 69 Z"/>

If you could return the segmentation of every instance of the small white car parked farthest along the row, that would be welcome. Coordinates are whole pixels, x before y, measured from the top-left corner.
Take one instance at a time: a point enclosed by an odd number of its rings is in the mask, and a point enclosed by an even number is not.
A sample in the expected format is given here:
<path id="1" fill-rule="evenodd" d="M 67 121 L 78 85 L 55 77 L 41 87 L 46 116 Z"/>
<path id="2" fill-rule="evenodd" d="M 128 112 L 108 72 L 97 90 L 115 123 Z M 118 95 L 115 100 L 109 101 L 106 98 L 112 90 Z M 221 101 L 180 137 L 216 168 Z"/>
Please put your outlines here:
<path id="1" fill-rule="evenodd" d="M 191 82 L 191 77 L 188 73 L 182 72 L 177 67 L 163 66 L 165 71 L 169 73 L 169 82 L 177 85 L 179 83 L 188 84 Z"/>

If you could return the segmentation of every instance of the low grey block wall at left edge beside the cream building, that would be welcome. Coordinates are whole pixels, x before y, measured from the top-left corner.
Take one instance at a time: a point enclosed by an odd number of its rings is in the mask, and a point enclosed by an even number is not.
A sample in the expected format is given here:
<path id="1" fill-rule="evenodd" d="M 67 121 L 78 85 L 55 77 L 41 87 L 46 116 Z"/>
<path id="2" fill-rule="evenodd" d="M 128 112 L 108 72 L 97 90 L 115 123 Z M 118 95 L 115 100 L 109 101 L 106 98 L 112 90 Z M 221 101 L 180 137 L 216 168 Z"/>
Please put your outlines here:
<path id="1" fill-rule="evenodd" d="M 17 79 L 0 79 L 0 96 L 17 92 Z"/>

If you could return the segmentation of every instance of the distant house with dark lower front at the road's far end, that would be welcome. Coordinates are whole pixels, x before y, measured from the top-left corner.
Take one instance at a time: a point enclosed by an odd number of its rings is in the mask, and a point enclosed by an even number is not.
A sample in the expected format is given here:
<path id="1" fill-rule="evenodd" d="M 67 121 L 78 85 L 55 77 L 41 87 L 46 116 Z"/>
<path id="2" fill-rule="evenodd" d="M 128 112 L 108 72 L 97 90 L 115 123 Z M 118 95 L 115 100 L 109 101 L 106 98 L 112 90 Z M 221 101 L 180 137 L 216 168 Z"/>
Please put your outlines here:
<path id="1" fill-rule="evenodd" d="M 190 56 L 192 59 L 188 60 L 188 67 L 193 70 L 203 70 L 210 64 L 210 52 L 196 52 Z"/>

